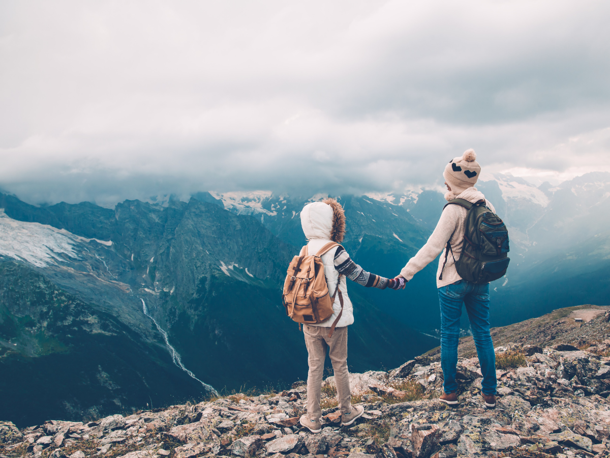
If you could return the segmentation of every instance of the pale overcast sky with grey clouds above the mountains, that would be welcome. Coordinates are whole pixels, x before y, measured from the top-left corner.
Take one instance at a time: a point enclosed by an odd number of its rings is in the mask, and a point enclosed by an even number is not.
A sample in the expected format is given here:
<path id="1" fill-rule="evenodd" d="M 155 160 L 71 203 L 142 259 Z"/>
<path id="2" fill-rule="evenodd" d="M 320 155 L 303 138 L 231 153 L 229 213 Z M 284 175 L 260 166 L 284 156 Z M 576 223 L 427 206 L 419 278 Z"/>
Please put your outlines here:
<path id="1" fill-rule="evenodd" d="M 0 3 L 0 188 L 111 205 L 610 171 L 610 2 Z"/>

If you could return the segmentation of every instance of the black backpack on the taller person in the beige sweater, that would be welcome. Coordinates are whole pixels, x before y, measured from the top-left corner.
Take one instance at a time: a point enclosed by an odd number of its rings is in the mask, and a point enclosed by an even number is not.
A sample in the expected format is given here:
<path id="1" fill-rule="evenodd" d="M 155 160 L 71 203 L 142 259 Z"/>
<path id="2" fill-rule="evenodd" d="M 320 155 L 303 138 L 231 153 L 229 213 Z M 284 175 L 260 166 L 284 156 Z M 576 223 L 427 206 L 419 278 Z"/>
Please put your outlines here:
<path id="1" fill-rule="evenodd" d="M 468 210 L 464 222 L 464 244 L 459 259 L 455 261 L 451 243 L 447 242 L 439 280 L 443 279 L 450 251 L 458 275 L 468 282 L 480 285 L 503 277 L 511 261 L 506 254 L 510 250 L 506 224 L 485 205 L 485 200 L 471 203 L 464 199 L 454 199 L 447 205 L 451 204 L 461 205 Z"/>

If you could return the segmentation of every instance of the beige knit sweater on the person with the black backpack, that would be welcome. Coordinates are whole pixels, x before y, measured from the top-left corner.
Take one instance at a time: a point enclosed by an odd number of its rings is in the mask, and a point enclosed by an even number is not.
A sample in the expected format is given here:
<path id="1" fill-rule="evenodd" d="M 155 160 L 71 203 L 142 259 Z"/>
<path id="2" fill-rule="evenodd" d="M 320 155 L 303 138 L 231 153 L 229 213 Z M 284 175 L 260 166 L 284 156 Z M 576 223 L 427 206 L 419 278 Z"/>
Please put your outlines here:
<path id="1" fill-rule="evenodd" d="M 485 196 L 482 192 L 476 190 L 476 187 L 469 187 L 462 194 L 450 196 L 446 198 L 462 198 L 468 202 L 477 202 L 478 200 L 484 199 Z M 495 213 L 495 208 L 489 203 L 489 200 L 485 201 L 487 206 Z M 458 275 L 456 271 L 453 256 L 449 252 L 447 257 L 447 264 L 443 271 L 443 279 L 439 280 L 440 271 L 443 268 L 445 262 L 445 247 L 447 241 L 451 238 L 451 249 L 456 260 L 459 260 L 459 253 L 462 252 L 462 244 L 464 243 L 464 220 L 466 219 L 467 209 L 460 205 L 448 205 L 440 215 L 440 219 L 434 232 L 428 239 L 422 249 L 420 249 L 415 256 L 413 256 L 406 266 L 400 271 L 406 280 L 411 280 L 413 275 L 421 271 L 429 263 L 431 263 L 440 252 L 443 252 L 439 259 L 439 268 L 436 272 L 436 287 L 441 288 L 442 286 L 450 285 L 450 283 L 462 280 L 462 277 Z"/>

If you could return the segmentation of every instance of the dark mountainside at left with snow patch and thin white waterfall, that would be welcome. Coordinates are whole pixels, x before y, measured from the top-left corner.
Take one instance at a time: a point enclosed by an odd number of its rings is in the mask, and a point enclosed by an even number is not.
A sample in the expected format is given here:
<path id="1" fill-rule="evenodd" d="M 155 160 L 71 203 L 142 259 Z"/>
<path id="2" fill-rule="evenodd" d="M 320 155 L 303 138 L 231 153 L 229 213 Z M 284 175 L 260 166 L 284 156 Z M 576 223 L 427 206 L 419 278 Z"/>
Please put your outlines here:
<path id="1" fill-rule="evenodd" d="M 303 336 L 281 304 L 297 249 L 258 217 L 202 193 L 112 210 L 10 195 L 0 206 L 0 388 L 21 399 L 1 402 L 0 418 L 82 420 L 306 377 Z M 436 344 L 363 289 L 350 285 L 353 370 L 392 367 Z"/>

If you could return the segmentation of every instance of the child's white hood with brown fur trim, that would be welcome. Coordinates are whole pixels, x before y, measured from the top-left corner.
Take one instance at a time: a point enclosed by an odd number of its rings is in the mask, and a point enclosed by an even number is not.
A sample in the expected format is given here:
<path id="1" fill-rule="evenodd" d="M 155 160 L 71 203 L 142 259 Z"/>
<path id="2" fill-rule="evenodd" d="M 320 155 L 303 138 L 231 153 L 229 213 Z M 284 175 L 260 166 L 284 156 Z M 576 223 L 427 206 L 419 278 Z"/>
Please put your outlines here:
<path id="1" fill-rule="evenodd" d="M 301 227 L 307 240 L 326 239 L 340 243 L 345 236 L 345 213 L 334 198 L 308 203 L 301 210 Z"/>

